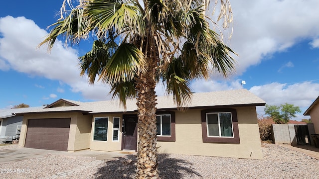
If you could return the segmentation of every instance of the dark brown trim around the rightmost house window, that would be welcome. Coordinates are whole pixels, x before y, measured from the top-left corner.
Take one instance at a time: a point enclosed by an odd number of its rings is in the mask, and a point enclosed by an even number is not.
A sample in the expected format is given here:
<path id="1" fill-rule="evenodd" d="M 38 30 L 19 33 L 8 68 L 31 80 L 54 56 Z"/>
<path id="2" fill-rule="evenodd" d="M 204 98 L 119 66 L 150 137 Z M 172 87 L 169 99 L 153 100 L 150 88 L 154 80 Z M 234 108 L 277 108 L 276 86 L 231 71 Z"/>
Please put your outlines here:
<path id="1" fill-rule="evenodd" d="M 208 136 L 207 131 L 207 113 L 222 113 L 222 112 L 231 112 L 232 116 L 232 125 L 233 125 L 233 137 L 215 137 Z M 233 108 L 215 108 L 215 109 L 204 109 L 201 110 L 201 128 L 202 128 L 202 137 L 203 142 L 213 142 L 213 143 L 233 143 L 239 144 L 239 130 L 238 130 L 238 119 L 237 119 L 237 110 Z"/>

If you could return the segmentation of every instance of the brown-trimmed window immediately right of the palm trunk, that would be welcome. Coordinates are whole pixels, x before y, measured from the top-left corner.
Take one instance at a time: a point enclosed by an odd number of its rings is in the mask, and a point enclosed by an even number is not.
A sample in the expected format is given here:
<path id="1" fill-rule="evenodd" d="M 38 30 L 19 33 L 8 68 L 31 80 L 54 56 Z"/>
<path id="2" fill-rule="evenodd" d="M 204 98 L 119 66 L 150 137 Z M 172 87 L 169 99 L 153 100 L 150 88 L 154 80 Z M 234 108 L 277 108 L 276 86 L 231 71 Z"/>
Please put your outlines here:
<path id="1" fill-rule="evenodd" d="M 175 141 L 175 113 L 173 111 L 157 111 L 158 141 Z"/>

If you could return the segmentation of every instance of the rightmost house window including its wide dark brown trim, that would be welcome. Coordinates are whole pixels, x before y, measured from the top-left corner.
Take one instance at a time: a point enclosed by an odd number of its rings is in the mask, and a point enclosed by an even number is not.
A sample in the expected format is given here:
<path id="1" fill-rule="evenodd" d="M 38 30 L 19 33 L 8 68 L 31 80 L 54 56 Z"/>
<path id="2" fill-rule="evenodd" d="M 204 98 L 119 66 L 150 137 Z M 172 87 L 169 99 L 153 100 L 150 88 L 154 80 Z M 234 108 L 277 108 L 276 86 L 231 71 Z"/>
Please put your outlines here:
<path id="1" fill-rule="evenodd" d="M 236 109 L 201 111 L 203 142 L 240 143 Z"/>

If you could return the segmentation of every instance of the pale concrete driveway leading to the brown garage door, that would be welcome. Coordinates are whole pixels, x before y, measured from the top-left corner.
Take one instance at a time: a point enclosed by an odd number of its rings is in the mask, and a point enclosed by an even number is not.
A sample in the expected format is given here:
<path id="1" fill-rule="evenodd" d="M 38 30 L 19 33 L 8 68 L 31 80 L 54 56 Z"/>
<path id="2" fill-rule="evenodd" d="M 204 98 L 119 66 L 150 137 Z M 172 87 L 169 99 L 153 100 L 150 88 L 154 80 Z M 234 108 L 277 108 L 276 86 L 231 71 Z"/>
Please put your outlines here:
<path id="1" fill-rule="evenodd" d="M 90 150 L 65 152 L 65 151 L 53 151 L 53 150 L 18 147 L 14 149 L 0 150 L 0 164 L 33 159 L 38 157 L 44 157 L 48 155 L 59 155 L 63 157 L 70 157 L 70 158 L 84 159 L 84 160 L 110 161 L 116 158 L 124 157 L 128 154 L 133 154 L 133 153 L 135 152 L 123 152 L 123 151 L 104 152 L 104 151 L 90 151 Z"/>

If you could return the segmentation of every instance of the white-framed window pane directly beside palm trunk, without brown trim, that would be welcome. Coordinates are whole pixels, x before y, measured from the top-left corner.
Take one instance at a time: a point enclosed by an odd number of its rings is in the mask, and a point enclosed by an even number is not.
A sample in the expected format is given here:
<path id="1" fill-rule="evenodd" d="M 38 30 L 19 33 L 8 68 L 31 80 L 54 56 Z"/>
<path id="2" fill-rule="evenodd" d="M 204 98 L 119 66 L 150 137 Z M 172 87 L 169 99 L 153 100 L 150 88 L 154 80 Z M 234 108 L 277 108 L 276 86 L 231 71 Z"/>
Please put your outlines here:
<path id="1" fill-rule="evenodd" d="M 171 136 L 171 116 L 170 114 L 160 114 L 156 116 L 158 127 L 157 136 Z"/>

